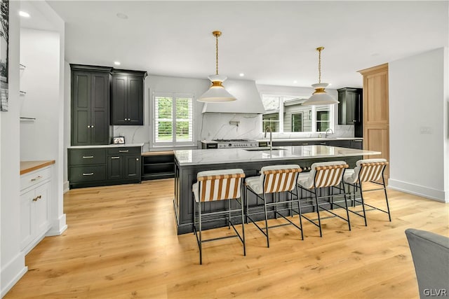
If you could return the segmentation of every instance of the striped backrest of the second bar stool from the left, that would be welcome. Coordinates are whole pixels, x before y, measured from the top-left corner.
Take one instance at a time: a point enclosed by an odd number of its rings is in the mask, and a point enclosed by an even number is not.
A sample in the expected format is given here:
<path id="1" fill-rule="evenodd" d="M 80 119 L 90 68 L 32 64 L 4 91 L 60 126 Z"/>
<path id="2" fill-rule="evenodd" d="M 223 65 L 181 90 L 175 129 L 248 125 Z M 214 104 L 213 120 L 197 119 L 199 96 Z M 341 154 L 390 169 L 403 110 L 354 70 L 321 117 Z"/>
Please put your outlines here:
<path id="1" fill-rule="evenodd" d="M 270 165 L 260 169 L 264 193 L 291 191 L 296 186 L 300 165 Z"/>

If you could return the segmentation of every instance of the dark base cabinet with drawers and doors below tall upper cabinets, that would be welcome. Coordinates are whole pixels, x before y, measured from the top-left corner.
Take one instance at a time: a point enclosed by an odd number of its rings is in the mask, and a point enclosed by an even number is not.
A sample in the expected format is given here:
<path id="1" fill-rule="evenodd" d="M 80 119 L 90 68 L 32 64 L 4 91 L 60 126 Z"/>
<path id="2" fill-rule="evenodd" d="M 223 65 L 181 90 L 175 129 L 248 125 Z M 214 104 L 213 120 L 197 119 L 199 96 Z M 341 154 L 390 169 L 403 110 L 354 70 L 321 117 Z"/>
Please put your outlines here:
<path id="1" fill-rule="evenodd" d="M 69 148 L 69 187 L 140 183 L 141 148 Z"/>

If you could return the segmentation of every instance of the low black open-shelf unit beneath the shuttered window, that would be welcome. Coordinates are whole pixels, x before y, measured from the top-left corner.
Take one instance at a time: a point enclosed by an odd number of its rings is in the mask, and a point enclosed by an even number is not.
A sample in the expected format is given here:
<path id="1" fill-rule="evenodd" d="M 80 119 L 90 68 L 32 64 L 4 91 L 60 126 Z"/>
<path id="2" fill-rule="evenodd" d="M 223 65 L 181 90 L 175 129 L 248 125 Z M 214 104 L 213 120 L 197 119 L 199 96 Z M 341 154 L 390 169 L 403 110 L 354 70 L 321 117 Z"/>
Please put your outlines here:
<path id="1" fill-rule="evenodd" d="M 142 180 L 175 177 L 173 151 L 142 153 Z"/>

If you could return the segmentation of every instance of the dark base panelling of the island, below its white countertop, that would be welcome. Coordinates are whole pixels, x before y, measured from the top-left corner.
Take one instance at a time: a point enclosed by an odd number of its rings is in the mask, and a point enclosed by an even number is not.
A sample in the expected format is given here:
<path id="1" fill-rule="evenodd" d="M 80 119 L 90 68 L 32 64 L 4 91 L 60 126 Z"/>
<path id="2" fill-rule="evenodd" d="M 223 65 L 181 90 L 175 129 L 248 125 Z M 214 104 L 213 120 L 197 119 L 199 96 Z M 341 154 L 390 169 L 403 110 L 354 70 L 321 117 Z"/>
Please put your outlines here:
<path id="1" fill-rule="evenodd" d="M 210 151 L 210 150 L 208 150 Z M 279 165 L 279 164 L 298 164 L 302 167 L 303 172 L 309 171 L 309 167 L 313 162 L 335 161 L 345 160 L 349 167 L 355 167 L 356 161 L 361 159 L 361 156 L 351 157 L 337 157 L 337 158 L 314 158 L 314 159 L 300 159 L 300 160 L 278 160 L 267 162 L 239 162 L 239 163 L 220 163 L 211 165 L 182 165 L 175 157 L 175 198 L 173 200 L 175 216 L 177 222 L 177 233 L 184 234 L 193 231 L 194 221 L 194 195 L 192 193 L 192 184 L 196 182 L 196 174 L 198 172 L 213 170 L 213 169 L 234 169 L 241 168 L 246 174 L 246 177 L 257 176 L 260 174 L 260 169 L 267 165 Z M 271 195 L 270 195 L 271 196 Z M 283 195 L 280 199 L 283 200 Z M 271 198 L 271 197 L 269 197 Z M 256 197 L 248 193 L 248 204 L 255 205 Z M 271 199 L 270 199 L 271 200 Z M 260 202 L 259 202 L 260 203 Z M 221 209 L 227 204 L 227 202 L 205 202 L 201 204 L 202 211 L 215 211 Z M 232 202 L 233 208 L 238 208 L 239 205 L 236 202 Z M 329 204 L 330 207 L 330 204 Z M 313 211 L 312 200 L 302 201 L 302 212 L 307 213 Z M 262 210 L 261 210 L 262 211 Z M 285 215 L 288 215 L 288 211 L 284 211 Z M 274 218 L 274 211 L 269 211 L 269 218 Z M 256 220 L 262 220 L 264 215 L 256 215 L 253 218 Z M 210 221 L 203 225 L 203 229 L 217 228 L 227 225 L 225 218 L 220 218 L 215 221 Z"/>

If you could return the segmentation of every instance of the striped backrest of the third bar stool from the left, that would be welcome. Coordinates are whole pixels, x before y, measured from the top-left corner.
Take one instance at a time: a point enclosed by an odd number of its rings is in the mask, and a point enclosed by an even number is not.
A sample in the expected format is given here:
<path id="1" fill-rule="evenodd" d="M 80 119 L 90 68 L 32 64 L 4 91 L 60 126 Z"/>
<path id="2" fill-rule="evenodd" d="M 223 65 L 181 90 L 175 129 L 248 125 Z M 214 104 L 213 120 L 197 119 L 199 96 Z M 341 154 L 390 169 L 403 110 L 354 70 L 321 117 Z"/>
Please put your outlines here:
<path id="1" fill-rule="evenodd" d="M 316 188 L 338 186 L 342 181 L 344 169 L 348 167 L 344 161 L 316 162 L 311 165 L 309 186 Z"/>

